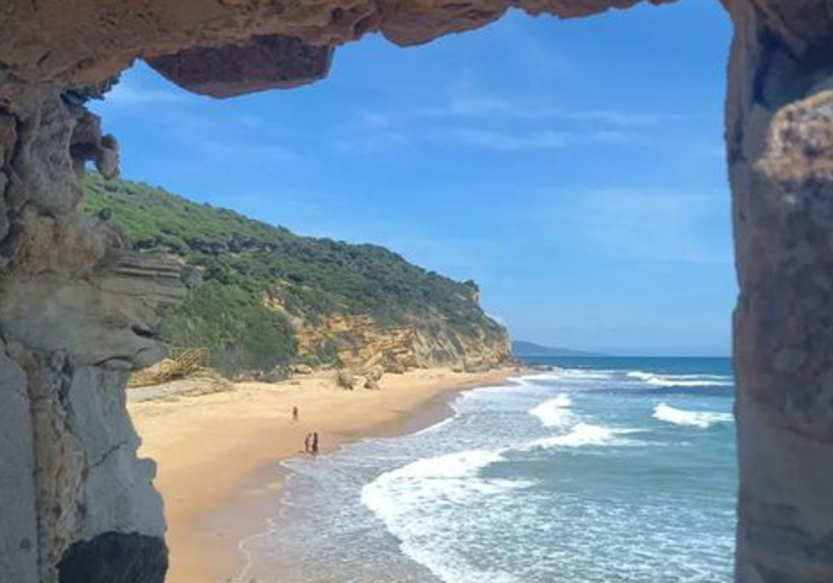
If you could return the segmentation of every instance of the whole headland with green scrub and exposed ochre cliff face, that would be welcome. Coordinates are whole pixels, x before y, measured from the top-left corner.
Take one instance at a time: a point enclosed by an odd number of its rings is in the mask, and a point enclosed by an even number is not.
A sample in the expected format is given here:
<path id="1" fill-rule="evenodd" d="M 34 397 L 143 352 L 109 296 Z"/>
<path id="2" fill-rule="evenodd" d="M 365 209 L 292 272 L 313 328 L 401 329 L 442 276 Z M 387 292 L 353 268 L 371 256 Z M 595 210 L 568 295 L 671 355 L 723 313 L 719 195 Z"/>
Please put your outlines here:
<path id="1" fill-rule="evenodd" d="M 510 359 L 506 331 L 454 282 L 374 245 L 299 237 L 137 182 L 87 185 L 135 252 L 175 257 L 191 291 L 162 325 L 173 346 L 207 348 L 229 375 L 276 366 L 472 370 Z"/>

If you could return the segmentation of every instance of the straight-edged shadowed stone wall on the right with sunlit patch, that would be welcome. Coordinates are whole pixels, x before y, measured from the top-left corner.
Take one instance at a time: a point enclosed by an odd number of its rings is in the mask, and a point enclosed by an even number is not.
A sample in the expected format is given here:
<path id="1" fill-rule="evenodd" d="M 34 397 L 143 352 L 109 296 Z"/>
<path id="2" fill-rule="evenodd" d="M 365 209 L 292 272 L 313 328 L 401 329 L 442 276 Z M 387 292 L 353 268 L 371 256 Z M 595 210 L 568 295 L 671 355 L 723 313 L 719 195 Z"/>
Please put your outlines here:
<path id="1" fill-rule="evenodd" d="M 727 2 L 736 581 L 833 581 L 833 12 Z"/>

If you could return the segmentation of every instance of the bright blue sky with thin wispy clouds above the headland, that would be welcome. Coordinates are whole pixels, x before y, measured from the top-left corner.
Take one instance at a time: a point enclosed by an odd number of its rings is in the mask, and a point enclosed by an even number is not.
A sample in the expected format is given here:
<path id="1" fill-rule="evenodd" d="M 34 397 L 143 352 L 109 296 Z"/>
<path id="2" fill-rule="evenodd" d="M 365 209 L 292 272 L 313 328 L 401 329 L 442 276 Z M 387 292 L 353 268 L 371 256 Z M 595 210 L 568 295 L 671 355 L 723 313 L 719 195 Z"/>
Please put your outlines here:
<path id="1" fill-rule="evenodd" d="M 122 174 L 481 284 L 518 339 L 728 354 L 736 296 L 718 2 L 510 12 L 327 80 L 218 101 L 139 64 L 93 108 Z"/>

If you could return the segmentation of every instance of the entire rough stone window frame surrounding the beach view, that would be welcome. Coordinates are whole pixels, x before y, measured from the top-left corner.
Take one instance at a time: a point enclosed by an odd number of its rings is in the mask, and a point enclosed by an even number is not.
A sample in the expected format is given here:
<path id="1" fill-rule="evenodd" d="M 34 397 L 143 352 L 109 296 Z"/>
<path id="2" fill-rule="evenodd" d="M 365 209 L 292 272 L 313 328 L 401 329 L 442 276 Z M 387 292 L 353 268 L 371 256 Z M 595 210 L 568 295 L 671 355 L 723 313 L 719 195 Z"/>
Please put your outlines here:
<path id="1" fill-rule="evenodd" d="M 639 2 L 4 2 L 0 581 L 158 583 L 167 570 L 155 469 L 137 459 L 124 391 L 164 354 L 158 326 L 185 286 L 177 265 L 80 212 L 87 163 L 118 172 L 117 140 L 88 99 L 140 57 L 227 97 L 320 79 L 338 46 L 371 32 L 407 46 L 509 7 L 567 18 Z M 833 581 L 833 4 L 723 6 L 741 290 L 736 581 Z"/>

